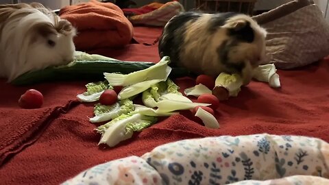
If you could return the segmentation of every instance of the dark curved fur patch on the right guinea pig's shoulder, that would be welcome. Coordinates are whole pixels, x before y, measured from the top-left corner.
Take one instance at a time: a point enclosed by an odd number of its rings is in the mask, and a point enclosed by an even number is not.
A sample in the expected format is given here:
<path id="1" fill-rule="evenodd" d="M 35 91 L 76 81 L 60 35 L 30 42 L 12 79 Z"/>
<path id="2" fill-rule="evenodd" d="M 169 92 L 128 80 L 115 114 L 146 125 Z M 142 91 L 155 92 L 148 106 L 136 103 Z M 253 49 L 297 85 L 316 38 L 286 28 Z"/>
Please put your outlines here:
<path id="1" fill-rule="evenodd" d="M 217 53 L 219 59 L 226 66 L 228 71 L 226 73 L 241 73 L 245 67 L 245 63 L 241 62 L 231 62 L 228 58 L 228 53 L 231 51 L 232 47 L 236 47 L 239 44 L 238 40 L 224 40 L 221 45 L 217 48 Z"/>

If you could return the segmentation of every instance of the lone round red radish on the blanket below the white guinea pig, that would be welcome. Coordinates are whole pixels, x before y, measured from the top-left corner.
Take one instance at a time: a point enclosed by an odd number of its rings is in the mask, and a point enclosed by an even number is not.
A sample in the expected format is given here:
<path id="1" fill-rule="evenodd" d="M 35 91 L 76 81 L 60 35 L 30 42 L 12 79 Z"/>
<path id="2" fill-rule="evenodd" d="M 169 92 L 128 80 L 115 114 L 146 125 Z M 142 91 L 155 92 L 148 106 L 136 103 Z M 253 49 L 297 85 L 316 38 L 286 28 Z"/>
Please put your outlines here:
<path id="1" fill-rule="evenodd" d="M 29 89 L 19 97 L 19 106 L 21 108 L 32 109 L 40 108 L 43 104 L 43 95 L 40 91 Z"/>

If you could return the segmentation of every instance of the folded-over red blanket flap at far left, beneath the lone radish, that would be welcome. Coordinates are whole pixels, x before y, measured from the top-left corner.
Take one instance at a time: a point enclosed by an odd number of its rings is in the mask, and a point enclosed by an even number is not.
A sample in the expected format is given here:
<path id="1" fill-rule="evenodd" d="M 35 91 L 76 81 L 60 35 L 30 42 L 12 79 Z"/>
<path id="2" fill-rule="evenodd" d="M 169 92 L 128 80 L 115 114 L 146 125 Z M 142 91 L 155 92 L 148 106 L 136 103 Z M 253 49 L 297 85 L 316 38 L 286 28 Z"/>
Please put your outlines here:
<path id="1" fill-rule="evenodd" d="M 54 98 L 63 92 L 74 93 L 64 86 L 60 88 L 59 85 L 60 83 L 53 84 L 52 87 L 57 88 L 56 90 L 49 90 L 49 86 L 42 84 L 29 87 L 40 90 L 44 95 L 44 104 L 37 109 L 19 108 L 18 99 L 29 88 L 3 85 L 5 91 L 0 93 L 0 167 L 38 140 L 60 114 L 79 103 L 75 97 Z"/>

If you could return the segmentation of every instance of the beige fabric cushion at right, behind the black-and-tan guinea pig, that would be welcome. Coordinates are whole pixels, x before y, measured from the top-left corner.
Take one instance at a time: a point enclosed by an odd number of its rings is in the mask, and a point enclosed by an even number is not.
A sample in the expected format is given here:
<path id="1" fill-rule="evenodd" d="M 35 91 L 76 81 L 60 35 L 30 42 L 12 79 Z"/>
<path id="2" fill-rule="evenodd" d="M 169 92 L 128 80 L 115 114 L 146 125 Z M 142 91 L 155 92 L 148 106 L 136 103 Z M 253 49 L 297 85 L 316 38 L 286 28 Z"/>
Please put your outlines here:
<path id="1" fill-rule="evenodd" d="M 267 14 L 270 12 L 255 19 L 261 20 Z M 268 32 L 268 57 L 263 64 L 274 63 L 278 69 L 293 69 L 329 55 L 329 24 L 315 4 L 304 5 L 268 22 L 260 22 Z"/>

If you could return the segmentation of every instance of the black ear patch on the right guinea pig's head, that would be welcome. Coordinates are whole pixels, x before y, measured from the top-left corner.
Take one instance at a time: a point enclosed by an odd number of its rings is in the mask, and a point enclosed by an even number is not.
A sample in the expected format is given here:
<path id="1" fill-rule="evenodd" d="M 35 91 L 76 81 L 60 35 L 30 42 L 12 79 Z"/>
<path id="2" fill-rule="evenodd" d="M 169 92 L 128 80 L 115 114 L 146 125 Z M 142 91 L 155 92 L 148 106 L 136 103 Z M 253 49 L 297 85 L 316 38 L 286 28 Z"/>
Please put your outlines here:
<path id="1" fill-rule="evenodd" d="M 255 38 L 254 29 L 252 29 L 249 21 L 246 21 L 245 26 L 239 30 L 230 29 L 229 35 L 242 42 L 253 42 Z"/>

